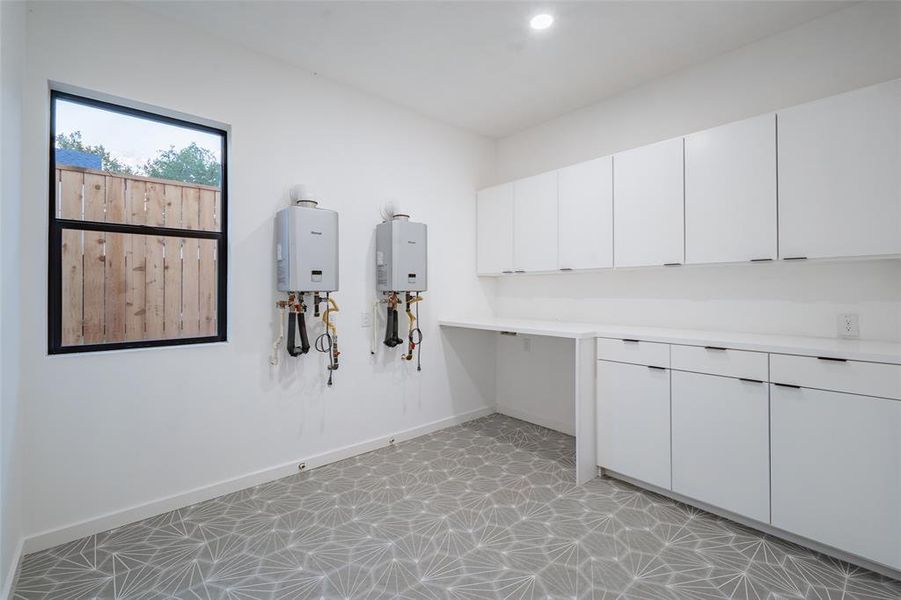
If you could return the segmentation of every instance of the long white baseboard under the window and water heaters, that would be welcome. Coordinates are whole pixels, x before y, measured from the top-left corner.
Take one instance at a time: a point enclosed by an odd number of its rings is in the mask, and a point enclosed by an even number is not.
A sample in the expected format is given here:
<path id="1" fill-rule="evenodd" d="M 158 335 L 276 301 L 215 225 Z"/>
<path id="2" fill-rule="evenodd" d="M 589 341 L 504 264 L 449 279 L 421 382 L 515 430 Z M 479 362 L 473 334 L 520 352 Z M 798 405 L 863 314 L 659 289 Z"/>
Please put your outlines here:
<path id="1" fill-rule="evenodd" d="M 21 548 L 20 550 L 25 554 L 46 550 L 47 548 L 65 544 L 66 542 L 71 542 L 87 535 L 115 529 L 116 527 L 140 521 L 141 519 L 190 506 L 191 504 L 203 502 L 204 500 L 210 500 L 222 496 L 223 494 L 230 494 L 261 483 L 267 483 L 269 481 L 281 479 L 282 477 L 287 477 L 288 475 L 293 475 L 297 473 L 297 468 L 300 464 L 306 465 L 305 469 L 307 470 L 315 469 L 316 467 L 321 467 L 339 460 L 344 460 L 345 458 L 351 458 L 359 454 L 365 454 L 366 452 L 382 448 L 390 444 L 391 440 L 402 442 L 427 433 L 432 433 L 433 431 L 438 431 L 439 429 L 478 419 L 494 412 L 496 412 L 494 407 L 476 409 L 461 415 L 439 419 L 438 421 L 432 421 L 425 425 L 399 431 L 394 434 L 380 436 L 358 444 L 344 446 L 343 448 L 336 448 L 335 450 L 323 452 L 322 454 L 299 458 L 289 463 L 248 473 L 240 477 L 235 477 L 234 479 L 227 479 L 173 496 L 152 500 L 145 504 L 126 508 L 125 510 L 107 513 L 78 523 L 44 531 L 25 538 L 24 550 Z"/>

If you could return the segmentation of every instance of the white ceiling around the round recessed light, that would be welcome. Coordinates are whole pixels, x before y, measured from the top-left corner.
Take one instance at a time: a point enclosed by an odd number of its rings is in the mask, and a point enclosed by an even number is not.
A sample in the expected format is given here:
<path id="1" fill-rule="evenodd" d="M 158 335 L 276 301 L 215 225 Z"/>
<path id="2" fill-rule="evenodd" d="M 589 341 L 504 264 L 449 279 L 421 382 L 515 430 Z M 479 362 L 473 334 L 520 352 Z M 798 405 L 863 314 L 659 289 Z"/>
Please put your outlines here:
<path id="1" fill-rule="evenodd" d="M 813 1 L 139 2 L 502 137 L 847 6 Z M 555 15 L 545 31 L 528 27 Z"/>

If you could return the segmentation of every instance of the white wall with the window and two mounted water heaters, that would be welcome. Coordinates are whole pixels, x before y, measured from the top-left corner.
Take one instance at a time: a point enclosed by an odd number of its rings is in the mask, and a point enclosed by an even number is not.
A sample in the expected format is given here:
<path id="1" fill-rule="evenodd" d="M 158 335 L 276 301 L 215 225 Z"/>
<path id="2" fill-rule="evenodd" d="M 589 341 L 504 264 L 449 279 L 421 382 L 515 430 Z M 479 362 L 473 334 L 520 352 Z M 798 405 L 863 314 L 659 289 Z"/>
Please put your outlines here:
<path id="1" fill-rule="evenodd" d="M 493 142 L 121 3 L 34 3 L 27 42 L 28 534 L 276 465 L 291 472 L 300 459 L 493 404 L 493 366 L 473 352 L 477 338 L 436 324 L 442 312 L 490 310 L 490 284 L 474 275 L 474 190 Z M 228 343 L 47 356 L 48 80 L 231 125 Z M 295 182 L 341 215 L 343 355 L 333 389 L 322 355 L 268 364 L 273 217 Z M 431 225 L 421 373 L 399 350 L 371 358 L 361 328 L 386 197 Z"/>

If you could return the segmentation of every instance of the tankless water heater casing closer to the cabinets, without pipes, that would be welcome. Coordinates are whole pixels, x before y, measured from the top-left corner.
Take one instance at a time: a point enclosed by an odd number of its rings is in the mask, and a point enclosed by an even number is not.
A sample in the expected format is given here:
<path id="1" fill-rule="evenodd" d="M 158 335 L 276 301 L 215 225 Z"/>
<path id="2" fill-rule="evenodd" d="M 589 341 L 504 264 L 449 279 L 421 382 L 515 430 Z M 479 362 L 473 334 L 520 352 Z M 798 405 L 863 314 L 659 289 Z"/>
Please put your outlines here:
<path id="1" fill-rule="evenodd" d="M 380 292 L 428 289 L 428 228 L 395 215 L 375 229 L 376 288 Z"/>

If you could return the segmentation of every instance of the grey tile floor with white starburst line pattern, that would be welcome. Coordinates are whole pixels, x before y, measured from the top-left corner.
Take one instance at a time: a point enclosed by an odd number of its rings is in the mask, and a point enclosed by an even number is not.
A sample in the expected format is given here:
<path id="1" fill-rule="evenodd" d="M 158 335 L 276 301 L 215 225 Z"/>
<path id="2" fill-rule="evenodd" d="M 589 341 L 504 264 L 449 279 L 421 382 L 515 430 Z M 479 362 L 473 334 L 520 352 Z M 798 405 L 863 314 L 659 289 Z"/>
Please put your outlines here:
<path id="1" fill-rule="evenodd" d="M 625 483 L 501 415 L 25 557 L 15 600 L 899 599 L 901 582 Z"/>

